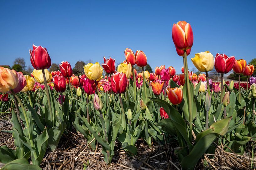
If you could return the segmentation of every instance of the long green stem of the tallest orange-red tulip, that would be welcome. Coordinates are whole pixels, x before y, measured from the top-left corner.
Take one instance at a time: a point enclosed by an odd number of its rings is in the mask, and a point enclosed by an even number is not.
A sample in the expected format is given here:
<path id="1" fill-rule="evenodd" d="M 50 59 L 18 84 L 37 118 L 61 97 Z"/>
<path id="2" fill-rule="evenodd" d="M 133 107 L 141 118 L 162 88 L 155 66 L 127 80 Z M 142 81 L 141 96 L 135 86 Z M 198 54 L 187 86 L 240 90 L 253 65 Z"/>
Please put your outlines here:
<path id="1" fill-rule="evenodd" d="M 189 139 L 192 142 L 192 131 L 193 131 L 193 124 L 192 124 L 192 96 L 190 90 L 190 82 L 189 82 L 189 75 L 188 75 L 188 62 L 187 62 L 187 51 L 184 50 L 184 69 L 185 69 L 185 76 L 186 76 L 186 87 L 187 87 L 187 97 L 188 97 L 188 113 L 189 113 Z"/>

